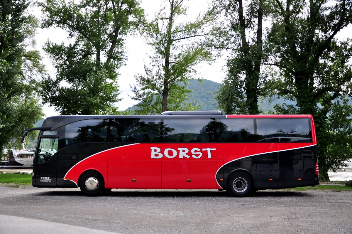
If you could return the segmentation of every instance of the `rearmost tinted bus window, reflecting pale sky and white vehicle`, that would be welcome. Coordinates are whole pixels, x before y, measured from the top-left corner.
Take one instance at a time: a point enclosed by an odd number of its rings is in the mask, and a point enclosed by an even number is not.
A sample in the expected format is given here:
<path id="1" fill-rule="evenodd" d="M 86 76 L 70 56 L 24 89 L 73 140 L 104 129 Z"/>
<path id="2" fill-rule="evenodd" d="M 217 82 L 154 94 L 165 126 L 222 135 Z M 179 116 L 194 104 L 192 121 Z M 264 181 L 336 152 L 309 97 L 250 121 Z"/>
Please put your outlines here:
<path id="1" fill-rule="evenodd" d="M 312 141 L 309 119 L 257 119 L 257 141 Z"/>

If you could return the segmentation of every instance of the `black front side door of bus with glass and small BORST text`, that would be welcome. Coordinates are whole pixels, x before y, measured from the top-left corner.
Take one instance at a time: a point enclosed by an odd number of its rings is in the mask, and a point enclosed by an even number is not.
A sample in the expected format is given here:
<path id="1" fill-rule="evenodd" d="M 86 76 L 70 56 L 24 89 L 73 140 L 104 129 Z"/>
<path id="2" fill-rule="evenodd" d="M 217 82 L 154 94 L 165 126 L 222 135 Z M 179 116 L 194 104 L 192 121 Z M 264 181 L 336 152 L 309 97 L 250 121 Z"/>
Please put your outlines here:
<path id="1" fill-rule="evenodd" d="M 40 138 L 39 148 L 36 149 L 36 158 L 33 161 L 34 178 L 32 178 L 32 183 L 36 187 L 56 186 L 57 142 L 58 137 Z"/>

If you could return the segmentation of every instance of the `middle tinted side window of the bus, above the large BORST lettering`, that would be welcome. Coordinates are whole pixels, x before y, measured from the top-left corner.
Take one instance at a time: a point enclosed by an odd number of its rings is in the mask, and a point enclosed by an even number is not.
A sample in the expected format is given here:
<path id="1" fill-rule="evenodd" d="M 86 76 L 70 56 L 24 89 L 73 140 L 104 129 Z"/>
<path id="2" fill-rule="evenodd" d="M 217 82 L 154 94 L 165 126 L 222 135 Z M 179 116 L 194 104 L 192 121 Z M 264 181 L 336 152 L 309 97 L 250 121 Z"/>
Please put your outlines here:
<path id="1" fill-rule="evenodd" d="M 177 118 L 164 119 L 164 142 L 212 142 L 214 141 L 214 119 Z"/>

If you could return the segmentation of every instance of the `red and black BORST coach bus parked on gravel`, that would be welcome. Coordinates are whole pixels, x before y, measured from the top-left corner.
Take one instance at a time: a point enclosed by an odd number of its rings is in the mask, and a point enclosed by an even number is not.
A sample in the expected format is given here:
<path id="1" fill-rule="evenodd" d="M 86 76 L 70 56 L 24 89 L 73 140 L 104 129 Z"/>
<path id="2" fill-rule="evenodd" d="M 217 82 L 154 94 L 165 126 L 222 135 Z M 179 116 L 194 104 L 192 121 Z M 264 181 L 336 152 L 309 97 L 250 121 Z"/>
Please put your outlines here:
<path id="1" fill-rule="evenodd" d="M 219 189 L 232 196 L 319 184 L 313 117 L 223 115 L 53 116 L 39 130 L 35 187 Z"/>

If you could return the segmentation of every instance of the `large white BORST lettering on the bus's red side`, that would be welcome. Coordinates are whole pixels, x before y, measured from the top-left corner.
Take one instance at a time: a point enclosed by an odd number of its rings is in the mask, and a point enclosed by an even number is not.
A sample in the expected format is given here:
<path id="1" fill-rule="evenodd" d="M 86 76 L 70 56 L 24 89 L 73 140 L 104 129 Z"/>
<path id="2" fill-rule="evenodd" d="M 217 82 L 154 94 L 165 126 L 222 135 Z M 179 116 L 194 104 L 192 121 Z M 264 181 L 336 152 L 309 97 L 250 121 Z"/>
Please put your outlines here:
<path id="1" fill-rule="evenodd" d="M 188 155 L 187 153 L 189 152 L 189 149 L 187 148 L 177 148 L 177 150 L 166 148 L 164 149 L 164 153 L 161 153 L 161 149 L 158 147 L 150 147 L 150 149 L 151 149 L 152 159 L 161 159 L 163 156 L 169 159 L 175 158 L 176 156 L 178 156 L 178 158 L 180 159 L 190 158 L 190 157 L 199 159 L 201 156 L 203 156 L 202 152 L 207 152 L 208 158 L 211 159 L 212 158 L 211 151 L 216 150 L 215 148 L 204 148 L 204 149 L 193 148 L 191 149 L 191 152 L 190 152 L 191 155 Z"/>

